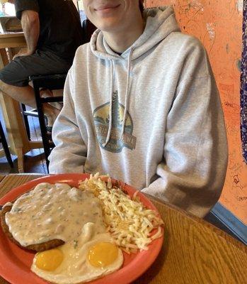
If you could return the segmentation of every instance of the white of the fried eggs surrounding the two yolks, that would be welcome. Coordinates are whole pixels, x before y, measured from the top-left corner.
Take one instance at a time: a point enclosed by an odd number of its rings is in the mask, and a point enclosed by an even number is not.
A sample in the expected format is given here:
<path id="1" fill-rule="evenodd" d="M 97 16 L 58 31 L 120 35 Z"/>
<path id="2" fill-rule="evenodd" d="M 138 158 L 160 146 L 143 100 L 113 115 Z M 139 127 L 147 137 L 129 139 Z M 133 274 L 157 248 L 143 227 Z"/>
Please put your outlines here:
<path id="1" fill-rule="evenodd" d="M 105 268 L 97 268 L 88 262 L 88 250 L 91 246 L 102 241 L 115 244 L 110 234 L 96 234 L 95 231 L 95 225 L 87 223 L 78 239 L 59 246 L 57 249 L 64 254 L 64 260 L 54 271 L 44 271 L 38 268 L 35 265 L 37 254 L 33 259 L 31 271 L 45 280 L 58 284 L 83 283 L 113 273 L 122 266 L 124 260 L 120 249 L 118 249 L 117 259 Z"/>

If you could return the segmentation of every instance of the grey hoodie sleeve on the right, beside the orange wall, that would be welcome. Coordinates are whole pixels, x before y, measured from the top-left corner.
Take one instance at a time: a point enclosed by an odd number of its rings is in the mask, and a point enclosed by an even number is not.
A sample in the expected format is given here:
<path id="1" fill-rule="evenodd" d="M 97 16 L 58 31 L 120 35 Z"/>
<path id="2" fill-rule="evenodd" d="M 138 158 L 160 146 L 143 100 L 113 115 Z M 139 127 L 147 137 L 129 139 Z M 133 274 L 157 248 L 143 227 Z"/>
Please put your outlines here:
<path id="1" fill-rule="evenodd" d="M 224 115 L 205 49 L 190 49 L 166 124 L 158 178 L 142 192 L 204 217 L 224 185 L 228 149 Z"/>

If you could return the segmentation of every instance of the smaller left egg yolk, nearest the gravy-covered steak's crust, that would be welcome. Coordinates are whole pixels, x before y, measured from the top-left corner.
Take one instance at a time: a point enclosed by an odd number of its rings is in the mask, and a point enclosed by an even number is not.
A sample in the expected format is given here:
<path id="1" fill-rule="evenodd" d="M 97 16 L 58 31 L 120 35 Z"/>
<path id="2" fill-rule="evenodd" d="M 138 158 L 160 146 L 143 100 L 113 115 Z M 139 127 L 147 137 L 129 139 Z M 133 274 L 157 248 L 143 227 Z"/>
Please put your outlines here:
<path id="1" fill-rule="evenodd" d="M 54 271 L 63 261 L 64 255 L 59 249 L 50 249 L 38 253 L 35 265 L 43 271 Z"/>

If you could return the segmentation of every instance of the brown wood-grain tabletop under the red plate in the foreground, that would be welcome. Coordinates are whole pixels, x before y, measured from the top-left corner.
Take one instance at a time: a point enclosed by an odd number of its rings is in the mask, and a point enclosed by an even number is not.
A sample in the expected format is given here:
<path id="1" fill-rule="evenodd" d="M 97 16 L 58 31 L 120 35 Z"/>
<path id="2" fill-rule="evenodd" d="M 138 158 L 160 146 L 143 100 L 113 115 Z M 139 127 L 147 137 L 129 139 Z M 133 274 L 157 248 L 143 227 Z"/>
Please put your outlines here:
<path id="1" fill-rule="evenodd" d="M 40 176 L 7 175 L 0 182 L 0 197 Z M 134 284 L 247 283 L 246 246 L 202 219 L 150 199 L 165 223 L 164 242 L 156 261 Z M 6 283 L 0 278 L 0 284 Z"/>

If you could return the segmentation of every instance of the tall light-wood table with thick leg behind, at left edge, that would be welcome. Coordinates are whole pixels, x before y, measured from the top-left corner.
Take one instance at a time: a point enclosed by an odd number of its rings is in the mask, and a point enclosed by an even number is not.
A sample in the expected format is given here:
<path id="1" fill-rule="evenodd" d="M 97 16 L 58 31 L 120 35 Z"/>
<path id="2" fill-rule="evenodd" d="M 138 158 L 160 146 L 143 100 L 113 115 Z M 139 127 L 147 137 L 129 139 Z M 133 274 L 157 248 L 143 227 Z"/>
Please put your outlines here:
<path id="1" fill-rule="evenodd" d="M 23 33 L 0 33 L 0 69 L 8 64 L 6 48 L 25 46 Z M 42 148 L 41 141 L 29 141 L 25 131 L 20 104 L 11 97 L 0 92 L 0 104 L 4 115 L 10 151 L 17 155 L 19 173 L 23 173 L 23 155 L 34 148 Z"/>

